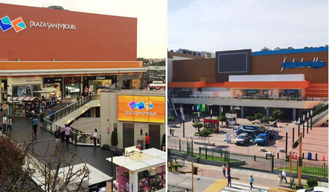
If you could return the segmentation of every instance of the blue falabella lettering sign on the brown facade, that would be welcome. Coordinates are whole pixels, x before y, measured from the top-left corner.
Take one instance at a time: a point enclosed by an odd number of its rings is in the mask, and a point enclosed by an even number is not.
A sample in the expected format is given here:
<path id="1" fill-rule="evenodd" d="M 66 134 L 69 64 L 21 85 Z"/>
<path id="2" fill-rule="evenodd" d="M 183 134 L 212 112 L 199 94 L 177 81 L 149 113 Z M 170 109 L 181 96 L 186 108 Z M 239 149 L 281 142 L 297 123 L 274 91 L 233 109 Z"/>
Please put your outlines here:
<path id="1" fill-rule="evenodd" d="M 304 68 L 304 67 L 312 67 L 314 69 L 318 69 L 318 68 L 321 68 L 321 67 L 325 67 L 326 64 L 324 63 L 324 61 L 318 61 L 319 57 L 314 57 L 313 58 L 313 61 L 310 62 L 310 61 L 307 61 L 307 62 L 304 62 L 302 58 L 300 60 L 300 62 L 295 62 L 295 58 L 293 59 L 293 62 L 286 62 L 286 59 L 288 57 L 284 57 L 283 59 L 283 62 L 281 63 L 281 71 L 283 71 L 284 68 Z"/>

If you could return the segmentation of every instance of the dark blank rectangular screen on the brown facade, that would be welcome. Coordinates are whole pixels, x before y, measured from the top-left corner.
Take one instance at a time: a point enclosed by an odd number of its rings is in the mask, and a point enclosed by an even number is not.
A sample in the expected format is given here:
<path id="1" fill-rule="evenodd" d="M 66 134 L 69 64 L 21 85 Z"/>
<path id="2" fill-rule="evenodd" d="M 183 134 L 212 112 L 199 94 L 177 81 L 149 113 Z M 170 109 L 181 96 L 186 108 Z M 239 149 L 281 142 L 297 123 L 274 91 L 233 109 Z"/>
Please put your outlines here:
<path id="1" fill-rule="evenodd" d="M 247 72 L 247 52 L 218 53 L 218 73 Z"/>

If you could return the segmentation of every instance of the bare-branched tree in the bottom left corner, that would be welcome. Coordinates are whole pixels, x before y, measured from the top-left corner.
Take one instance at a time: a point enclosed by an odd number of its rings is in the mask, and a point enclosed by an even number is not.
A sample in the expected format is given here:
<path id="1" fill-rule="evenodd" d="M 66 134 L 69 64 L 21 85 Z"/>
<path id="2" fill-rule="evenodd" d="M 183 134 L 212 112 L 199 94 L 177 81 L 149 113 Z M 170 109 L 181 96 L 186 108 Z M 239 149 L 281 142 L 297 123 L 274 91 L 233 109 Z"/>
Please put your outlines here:
<path id="1" fill-rule="evenodd" d="M 17 145 L 8 137 L 0 136 L 0 191 L 85 191 L 89 169 L 76 153 L 65 147 L 35 152 L 32 135 L 29 141 Z M 76 168 L 77 159 L 83 163 Z M 62 167 L 65 167 L 62 169 Z M 75 168 L 74 168 L 75 167 Z"/>

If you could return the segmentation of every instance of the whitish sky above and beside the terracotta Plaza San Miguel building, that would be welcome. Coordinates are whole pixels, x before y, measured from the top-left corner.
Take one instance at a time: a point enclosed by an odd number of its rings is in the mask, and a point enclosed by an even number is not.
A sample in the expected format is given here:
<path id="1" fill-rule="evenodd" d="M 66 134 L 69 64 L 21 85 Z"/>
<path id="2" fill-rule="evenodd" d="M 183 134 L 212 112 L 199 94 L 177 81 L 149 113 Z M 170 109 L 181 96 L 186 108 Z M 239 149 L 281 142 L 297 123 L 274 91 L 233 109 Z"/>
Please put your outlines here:
<path id="1" fill-rule="evenodd" d="M 0 0 L 0 3 L 137 17 L 137 57 L 167 56 L 167 1 L 154 0 Z"/>

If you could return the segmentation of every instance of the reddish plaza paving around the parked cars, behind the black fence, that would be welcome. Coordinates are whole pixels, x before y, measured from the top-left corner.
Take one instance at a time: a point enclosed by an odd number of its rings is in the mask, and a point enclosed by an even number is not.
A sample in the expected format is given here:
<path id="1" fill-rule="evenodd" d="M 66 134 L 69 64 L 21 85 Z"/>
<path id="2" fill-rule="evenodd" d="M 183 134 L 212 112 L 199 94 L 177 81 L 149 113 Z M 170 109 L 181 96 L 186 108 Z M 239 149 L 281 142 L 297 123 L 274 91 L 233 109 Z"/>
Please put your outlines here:
<path id="1" fill-rule="evenodd" d="M 260 147 L 265 147 L 266 151 L 272 152 L 277 157 L 278 149 L 283 148 L 285 149 L 285 125 L 288 124 L 288 152 L 291 150 L 293 152 L 298 152 L 299 148 L 292 149 L 293 144 L 293 124 L 291 122 L 279 122 L 280 128 L 278 127 L 269 127 L 270 129 L 275 129 L 279 131 L 278 140 L 276 141 L 270 141 L 269 144 L 266 144 L 266 146 L 258 146 L 254 145 L 253 142 L 250 142 L 247 144 L 247 146 L 236 146 L 234 144 L 234 138 L 231 139 L 231 143 L 226 143 L 224 140 L 226 139 L 226 132 L 231 132 L 231 129 L 229 128 L 220 128 L 220 133 L 213 133 L 209 138 L 203 138 L 200 139 L 197 136 L 194 136 L 194 133 L 197 132 L 197 129 L 195 129 L 192 126 L 192 117 L 189 117 L 188 115 L 185 116 L 186 122 L 185 122 L 185 138 L 187 139 L 193 139 L 193 141 L 199 141 L 199 142 L 211 142 L 215 143 L 217 148 L 227 148 L 231 152 L 243 152 L 248 153 L 251 155 L 264 155 L 265 152 L 260 152 Z M 203 119 L 200 118 L 200 122 L 203 123 Z M 237 123 L 241 122 L 241 124 L 250 122 L 246 119 L 237 119 Z M 170 136 L 169 129 L 170 127 L 174 126 L 174 138 L 180 138 L 182 141 L 183 139 L 183 125 L 180 126 L 179 120 L 176 120 L 174 122 L 168 122 L 168 136 Z M 220 122 L 221 124 L 221 122 Z M 200 130 L 202 130 L 201 128 Z M 300 131 L 302 132 L 303 126 L 300 125 Z M 306 127 L 305 127 L 305 137 L 303 138 L 303 150 L 305 162 L 307 161 L 307 153 L 312 153 L 312 159 L 315 162 L 315 154 L 317 153 L 318 160 L 322 160 L 322 157 L 324 156 L 325 161 L 328 161 L 328 128 L 326 126 L 324 127 L 313 127 L 312 130 L 308 128 L 308 133 L 306 133 Z M 298 133 L 298 125 L 295 125 L 295 138 L 297 139 L 297 133 Z M 199 145 L 202 146 L 202 145 Z M 171 143 L 168 143 L 168 148 L 171 147 Z M 198 147 L 198 145 L 194 145 L 194 147 Z M 279 158 L 284 159 L 285 152 L 279 152 Z"/>

